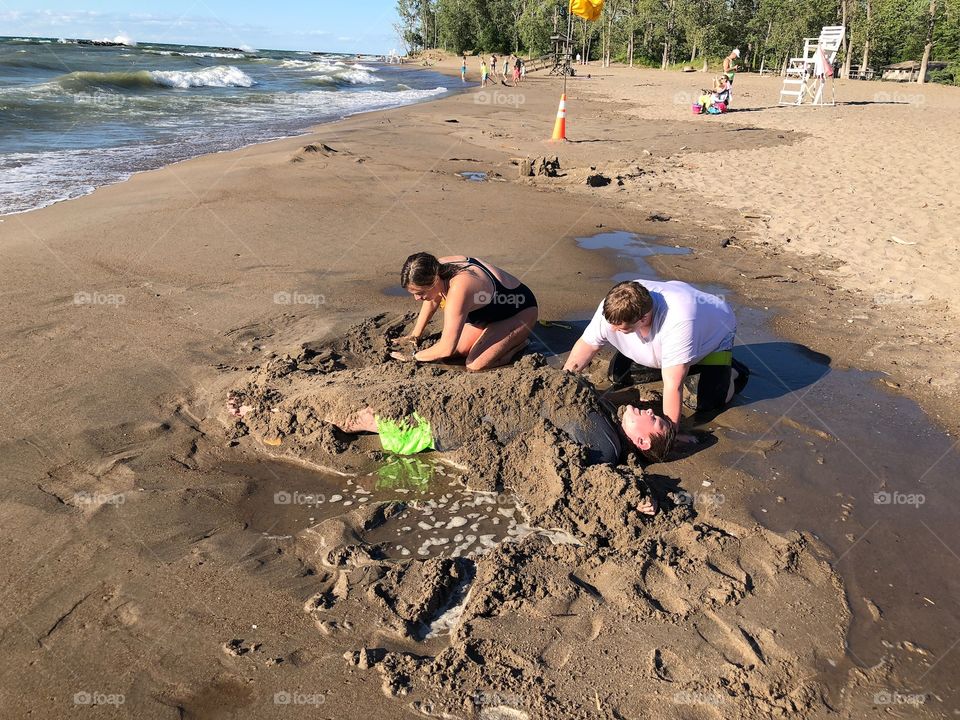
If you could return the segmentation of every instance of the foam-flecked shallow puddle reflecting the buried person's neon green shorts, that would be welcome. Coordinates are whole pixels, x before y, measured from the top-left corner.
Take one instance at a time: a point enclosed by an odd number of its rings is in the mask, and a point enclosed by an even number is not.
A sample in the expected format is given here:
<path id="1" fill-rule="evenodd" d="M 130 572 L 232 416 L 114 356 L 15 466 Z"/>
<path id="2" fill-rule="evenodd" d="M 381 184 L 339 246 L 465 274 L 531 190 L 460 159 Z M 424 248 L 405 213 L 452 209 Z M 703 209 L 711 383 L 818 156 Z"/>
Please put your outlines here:
<path id="1" fill-rule="evenodd" d="M 400 513 L 363 533 L 384 559 L 472 557 L 532 532 L 575 542 L 527 525 L 511 493 L 467 490 L 461 471 L 443 460 L 395 457 L 356 473 L 276 460 L 228 462 L 220 470 L 249 480 L 240 515 L 268 539 L 292 539 L 361 506 L 401 502 Z"/>

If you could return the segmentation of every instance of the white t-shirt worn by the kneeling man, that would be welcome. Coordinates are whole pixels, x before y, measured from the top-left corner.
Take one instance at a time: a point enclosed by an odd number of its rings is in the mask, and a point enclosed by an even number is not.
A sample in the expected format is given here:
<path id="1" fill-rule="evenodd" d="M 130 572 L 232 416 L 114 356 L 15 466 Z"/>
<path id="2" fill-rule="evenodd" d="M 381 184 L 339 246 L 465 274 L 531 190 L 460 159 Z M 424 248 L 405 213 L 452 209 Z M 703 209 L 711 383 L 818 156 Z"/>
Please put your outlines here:
<path id="1" fill-rule="evenodd" d="M 644 340 L 638 332 L 619 333 L 603 318 L 603 302 L 581 340 L 594 347 L 610 343 L 640 365 L 652 368 L 693 364 L 715 350 L 732 350 L 737 319 L 722 297 L 671 280 L 639 278 L 653 299 L 653 325 Z"/>

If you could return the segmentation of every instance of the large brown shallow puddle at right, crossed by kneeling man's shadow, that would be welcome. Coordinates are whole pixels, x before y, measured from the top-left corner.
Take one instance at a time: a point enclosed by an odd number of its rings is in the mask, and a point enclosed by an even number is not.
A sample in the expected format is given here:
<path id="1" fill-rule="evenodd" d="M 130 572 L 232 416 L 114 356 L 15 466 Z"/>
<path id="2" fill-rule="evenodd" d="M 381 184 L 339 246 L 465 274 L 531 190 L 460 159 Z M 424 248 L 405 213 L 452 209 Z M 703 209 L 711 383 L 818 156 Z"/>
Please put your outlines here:
<path id="1" fill-rule="evenodd" d="M 956 443 L 915 402 L 883 390 L 879 374 L 831 368 L 829 357 L 766 332 L 765 316 L 738 308 L 735 355 L 752 369 L 736 411 L 746 422 L 724 431 L 714 480 L 722 486 L 731 470 L 755 477 L 758 520 L 810 530 L 831 547 L 859 664 L 899 653 L 917 682 L 943 687 L 953 671 L 937 659 L 960 629 Z"/>

